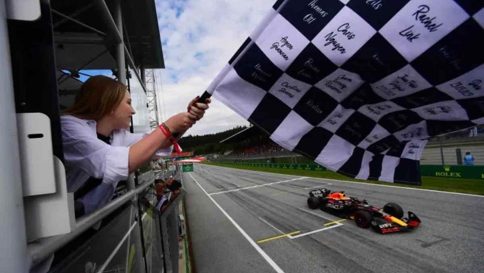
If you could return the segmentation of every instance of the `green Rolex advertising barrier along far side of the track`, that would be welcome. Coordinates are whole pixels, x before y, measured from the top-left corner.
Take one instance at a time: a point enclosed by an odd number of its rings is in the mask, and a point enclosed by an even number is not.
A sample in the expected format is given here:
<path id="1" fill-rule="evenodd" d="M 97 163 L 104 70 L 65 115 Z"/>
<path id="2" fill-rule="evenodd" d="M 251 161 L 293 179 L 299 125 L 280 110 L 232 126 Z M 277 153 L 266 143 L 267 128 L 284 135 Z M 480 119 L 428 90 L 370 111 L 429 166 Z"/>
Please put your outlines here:
<path id="1" fill-rule="evenodd" d="M 326 171 L 327 169 L 318 164 L 284 164 L 284 163 L 240 163 L 231 162 L 236 166 L 263 167 L 275 169 L 292 169 L 307 171 Z M 484 180 L 484 166 L 463 165 L 420 165 L 421 176 L 434 176 L 445 178 L 482 179 Z"/>

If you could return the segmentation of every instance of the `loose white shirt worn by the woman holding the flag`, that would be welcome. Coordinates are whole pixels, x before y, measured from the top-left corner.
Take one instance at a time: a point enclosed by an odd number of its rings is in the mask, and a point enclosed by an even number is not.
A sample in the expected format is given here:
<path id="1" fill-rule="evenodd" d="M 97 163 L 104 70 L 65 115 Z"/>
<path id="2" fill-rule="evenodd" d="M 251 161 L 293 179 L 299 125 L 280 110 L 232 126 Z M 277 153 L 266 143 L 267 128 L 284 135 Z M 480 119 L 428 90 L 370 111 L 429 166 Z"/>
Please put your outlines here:
<path id="1" fill-rule="evenodd" d="M 118 182 L 128 178 L 129 147 L 146 133 L 116 129 L 108 145 L 97 138 L 94 120 L 62 115 L 61 128 L 67 190 L 75 192 L 91 176 L 103 179 L 101 185 L 79 200 L 86 213 L 92 212 L 111 200 Z M 156 155 L 167 157 L 172 149 L 159 150 Z"/>

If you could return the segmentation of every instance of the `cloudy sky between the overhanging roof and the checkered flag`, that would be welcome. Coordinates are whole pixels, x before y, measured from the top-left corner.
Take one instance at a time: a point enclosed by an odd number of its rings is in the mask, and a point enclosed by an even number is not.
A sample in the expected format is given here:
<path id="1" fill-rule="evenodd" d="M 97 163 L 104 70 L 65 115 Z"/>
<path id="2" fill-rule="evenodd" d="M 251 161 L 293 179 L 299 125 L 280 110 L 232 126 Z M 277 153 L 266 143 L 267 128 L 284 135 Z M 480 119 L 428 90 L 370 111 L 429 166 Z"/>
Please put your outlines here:
<path id="1" fill-rule="evenodd" d="M 275 2 L 155 0 L 166 67 L 160 70 L 163 94 L 158 92 L 164 99 L 163 119 L 185 111 L 187 103 L 202 94 Z M 242 124 L 248 122 L 213 100 L 188 134 L 214 133 Z"/>

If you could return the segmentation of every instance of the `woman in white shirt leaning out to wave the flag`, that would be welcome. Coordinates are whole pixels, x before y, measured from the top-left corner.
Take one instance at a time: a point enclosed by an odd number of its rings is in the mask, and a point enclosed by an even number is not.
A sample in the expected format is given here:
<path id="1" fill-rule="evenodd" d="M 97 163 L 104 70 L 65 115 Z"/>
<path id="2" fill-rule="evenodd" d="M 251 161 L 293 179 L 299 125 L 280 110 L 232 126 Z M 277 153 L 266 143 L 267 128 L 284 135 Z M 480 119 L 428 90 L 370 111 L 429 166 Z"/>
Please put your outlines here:
<path id="1" fill-rule="evenodd" d="M 76 217 L 109 202 L 119 181 L 155 154 L 169 156 L 176 141 L 208 109 L 210 99 L 193 99 L 187 112 L 162 123 L 149 134 L 131 133 L 135 113 L 127 87 L 109 77 L 93 76 L 79 90 L 76 102 L 61 116 L 67 187 L 74 192 Z M 161 126 L 160 126 L 161 127 Z M 177 133 L 177 138 L 172 134 Z"/>

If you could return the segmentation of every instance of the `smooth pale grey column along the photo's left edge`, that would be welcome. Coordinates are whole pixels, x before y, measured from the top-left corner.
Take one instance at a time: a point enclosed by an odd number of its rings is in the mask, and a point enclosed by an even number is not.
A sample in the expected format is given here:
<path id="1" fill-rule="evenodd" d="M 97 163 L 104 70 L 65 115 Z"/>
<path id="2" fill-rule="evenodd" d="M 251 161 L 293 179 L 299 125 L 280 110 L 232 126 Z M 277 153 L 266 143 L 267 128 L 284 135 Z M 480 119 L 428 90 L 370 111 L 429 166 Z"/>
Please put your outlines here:
<path id="1" fill-rule="evenodd" d="M 5 1 L 0 1 L 0 272 L 29 272 Z"/>

